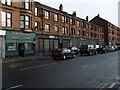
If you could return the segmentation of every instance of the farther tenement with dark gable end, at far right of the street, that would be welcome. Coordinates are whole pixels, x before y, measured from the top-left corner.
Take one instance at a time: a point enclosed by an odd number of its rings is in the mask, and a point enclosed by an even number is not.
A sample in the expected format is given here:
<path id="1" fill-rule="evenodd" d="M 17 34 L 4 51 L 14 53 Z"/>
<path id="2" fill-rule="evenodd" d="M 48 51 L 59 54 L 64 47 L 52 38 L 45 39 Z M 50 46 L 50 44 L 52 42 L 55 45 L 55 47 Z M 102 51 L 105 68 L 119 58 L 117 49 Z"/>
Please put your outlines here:
<path id="1" fill-rule="evenodd" d="M 117 26 L 101 18 L 99 14 L 90 22 L 103 27 L 105 45 L 116 45 L 120 42 L 120 29 Z"/>

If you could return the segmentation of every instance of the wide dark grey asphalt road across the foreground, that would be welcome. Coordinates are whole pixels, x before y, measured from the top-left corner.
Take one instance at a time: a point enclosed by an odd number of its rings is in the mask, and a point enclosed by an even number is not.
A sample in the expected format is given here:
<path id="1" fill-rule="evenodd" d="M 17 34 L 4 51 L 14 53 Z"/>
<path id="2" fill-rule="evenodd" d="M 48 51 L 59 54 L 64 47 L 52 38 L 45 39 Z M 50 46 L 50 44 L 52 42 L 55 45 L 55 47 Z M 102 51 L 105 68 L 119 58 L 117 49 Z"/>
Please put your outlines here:
<path id="1" fill-rule="evenodd" d="M 118 80 L 118 51 L 3 64 L 3 88 L 100 88 Z"/>

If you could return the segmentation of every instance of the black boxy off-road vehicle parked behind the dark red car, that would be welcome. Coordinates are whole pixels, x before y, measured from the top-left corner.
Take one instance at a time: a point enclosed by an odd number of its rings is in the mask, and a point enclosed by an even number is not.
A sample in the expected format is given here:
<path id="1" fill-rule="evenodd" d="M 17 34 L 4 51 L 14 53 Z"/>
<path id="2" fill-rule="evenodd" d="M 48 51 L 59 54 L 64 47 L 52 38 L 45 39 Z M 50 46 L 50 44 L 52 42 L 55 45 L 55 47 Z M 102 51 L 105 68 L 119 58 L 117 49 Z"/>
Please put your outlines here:
<path id="1" fill-rule="evenodd" d="M 81 54 L 81 56 L 84 54 L 86 54 L 86 55 L 97 54 L 97 50 L 94 47 L 94 45 L 81 45 L 80 46 L 80 54 Z"/>

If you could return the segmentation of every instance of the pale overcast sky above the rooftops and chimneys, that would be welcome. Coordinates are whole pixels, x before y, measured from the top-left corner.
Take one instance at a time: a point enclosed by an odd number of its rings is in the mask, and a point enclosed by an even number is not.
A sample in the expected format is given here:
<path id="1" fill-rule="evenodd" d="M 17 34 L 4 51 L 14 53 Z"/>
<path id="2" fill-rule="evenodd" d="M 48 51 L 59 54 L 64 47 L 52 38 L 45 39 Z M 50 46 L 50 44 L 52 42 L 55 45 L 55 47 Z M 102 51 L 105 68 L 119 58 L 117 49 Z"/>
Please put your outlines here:
<path id="1" fill-rule="evenodd" d="M 59 9 L 63 4 L 63 10 L 69 14 L 76 11 L 77 17 L 89 20 L 100 15 L 101 18 L 118 26 L 118 2 L 119 0 L 34 0 L 47 6 Z"/>

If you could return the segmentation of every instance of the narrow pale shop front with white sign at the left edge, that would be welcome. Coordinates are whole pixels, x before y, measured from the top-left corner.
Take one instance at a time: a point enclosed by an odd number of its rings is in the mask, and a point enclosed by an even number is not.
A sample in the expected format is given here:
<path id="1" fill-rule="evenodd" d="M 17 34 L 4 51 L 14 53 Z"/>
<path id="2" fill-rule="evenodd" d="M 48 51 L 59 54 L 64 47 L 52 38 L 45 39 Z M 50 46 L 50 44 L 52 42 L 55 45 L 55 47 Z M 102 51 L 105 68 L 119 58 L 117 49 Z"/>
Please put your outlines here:
<path id="1" fill-rule="evenodd" d="M 5 58 L 5 35 L 6 31 L 0 30 L 0 59 Z"/>

